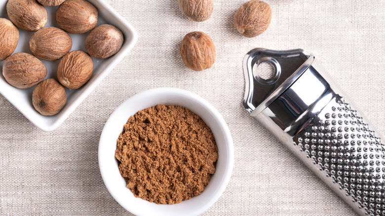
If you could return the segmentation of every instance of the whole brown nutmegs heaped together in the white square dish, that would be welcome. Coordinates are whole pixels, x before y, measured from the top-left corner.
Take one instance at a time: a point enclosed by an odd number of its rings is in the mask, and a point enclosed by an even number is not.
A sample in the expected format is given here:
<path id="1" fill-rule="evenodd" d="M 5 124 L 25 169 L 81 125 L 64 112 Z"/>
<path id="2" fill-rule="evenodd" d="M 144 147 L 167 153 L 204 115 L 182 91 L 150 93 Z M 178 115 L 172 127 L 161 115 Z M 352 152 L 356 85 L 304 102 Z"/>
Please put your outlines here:
<path id="1" fill-rule="evenodd" d="M 45 27 L 48 13 L 45 6 L 58 6 L 59 28 Z M 42 115 L 57 114 L 67 103 L 65 87 L 78 89 L 92 76 L 92 57 L 104 59 L 114 55 L 123 44 L 123 34 L 115 26 L 98 23 L 98 10 L 86 0 L 8 0 L 8 19 L 0 18 L 0 61 L 2 74 L 12 86 L 20 89 L 37 85 L 32 104 Z M 20 31 L 35 32 L 30 40 L 31 54 L 12 54 Z M 89 32 L 90 31 L 90 32 Z M 70 52 L 72 37 L 68 34 L 88 33 L 84 44 L 87 53 Z M 61 59 L 57 80 L 45 79 L 47 69 L 39 60 Z"/>

